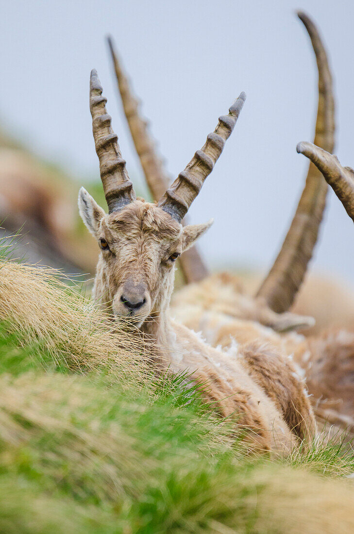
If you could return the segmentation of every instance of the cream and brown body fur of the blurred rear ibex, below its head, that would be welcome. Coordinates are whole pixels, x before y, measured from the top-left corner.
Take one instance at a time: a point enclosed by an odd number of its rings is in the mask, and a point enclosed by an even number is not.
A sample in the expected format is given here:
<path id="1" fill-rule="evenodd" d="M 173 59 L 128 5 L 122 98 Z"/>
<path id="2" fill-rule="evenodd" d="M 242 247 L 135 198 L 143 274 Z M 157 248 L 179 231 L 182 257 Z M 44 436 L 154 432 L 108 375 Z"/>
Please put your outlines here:
<path id="1" fill-rule="evenodd" d="M 292 355 L 298 374 L 304 377 L 317 417 L 354 429 L 354 329 L 332 328 L 309 337 L 295 332 L 280 335 L 256 321 L 215 311 L 198 312 L 191 305 L 181 305 L 173 311 L 178 320 L 200 331 L 214 347 L 231 350 L 257 340 L 280 354 Z"/>

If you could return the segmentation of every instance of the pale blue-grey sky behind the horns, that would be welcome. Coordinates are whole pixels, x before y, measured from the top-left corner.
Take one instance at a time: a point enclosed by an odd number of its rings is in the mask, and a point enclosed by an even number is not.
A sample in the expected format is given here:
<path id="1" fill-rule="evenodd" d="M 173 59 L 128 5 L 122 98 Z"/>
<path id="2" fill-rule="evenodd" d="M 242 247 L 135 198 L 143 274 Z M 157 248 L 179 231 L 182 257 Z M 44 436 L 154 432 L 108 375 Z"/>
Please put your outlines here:
<path id="1" fill-rule="evenodd" d="M 209 265 L 266 270 L 301 193 L 312 140 L 317 69 L 296 9 L 320 28 L 334 74 L 335 153 L 354 166 L 354 2 L 303 0 L 13 0 L 0 18 L 0 124 L 80 179 L 98 176 L 89 111 L 96 68 L 128 171 L 142 172 L 116 94 L 112 34 L 159 151 L 175 177 L 241 91 L 247 100 L 199 197 L 192 222 L 215 218 L 201 240 Z M 354 227 L 333 192 L 312 270 L 354 282 Z"/>

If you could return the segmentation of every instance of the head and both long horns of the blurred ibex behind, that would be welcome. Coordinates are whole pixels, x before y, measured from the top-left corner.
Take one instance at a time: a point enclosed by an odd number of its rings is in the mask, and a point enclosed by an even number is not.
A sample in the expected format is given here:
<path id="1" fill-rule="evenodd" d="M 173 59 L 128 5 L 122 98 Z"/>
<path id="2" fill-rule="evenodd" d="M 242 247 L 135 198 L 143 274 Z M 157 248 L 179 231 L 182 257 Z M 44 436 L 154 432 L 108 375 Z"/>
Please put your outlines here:
<path id="1" fill-rule="evenodd" d="M 311 37 L 319 70 L 319 103 L 314 142 L 332 152 L 334 147 L 332 76 L 316 27 L 305 14 L 299 13 L 298 15 Z M 138 101 L 133 97 L 127 76 L 124 75 L 119 59 L 114 53 L 112 40 L 109 40 L 109 46 L 133 142 L 147 184 L 153 198 L 157 200 L 168 186 L 169 177 L 155 152 L 154 142 L 148 133 L 146 122 L 139 116 Z M 277 313 L 288 311 L 302 284 L 316 244 L 326 194 L 327 184 L 316 167 L 311 164 L 304 191 L 284 244 L 268 276 L 258 288 L 256 298 L 247 299 L 245 292 L 242 291 L 239 277 L 232 274 L 225 276 L 225 273 L 207 276 L 207 268 L 198 250 L 193 247 L 186 257 L 180 259 L 180 266 L 188 283 L 199 282 L 199 284 L 188 286 L 179 292 L 172 305 L 177 308 L 180 305 L 185 307 L 186 304 L 192 304 L 194 317 L 195 313 L 198 313 L 196 306 L 199 307 L 199 313 L 206 309 L 222 311 L 224 308 L 234 317 L 254 319 L 278 331 L 304 326 L 303 317 L 296 318 L 289 314 L 279 316 Z"/>

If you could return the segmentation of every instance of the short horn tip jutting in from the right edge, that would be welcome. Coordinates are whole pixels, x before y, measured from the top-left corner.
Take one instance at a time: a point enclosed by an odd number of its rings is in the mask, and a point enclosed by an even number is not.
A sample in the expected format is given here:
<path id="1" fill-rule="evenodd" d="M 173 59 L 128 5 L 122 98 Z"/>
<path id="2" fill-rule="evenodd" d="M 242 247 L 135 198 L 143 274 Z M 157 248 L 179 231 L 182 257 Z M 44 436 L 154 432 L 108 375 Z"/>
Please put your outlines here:
<path id="1" fill-rule="evenodd" d="M 303 154 L 316 165 L 326 179 L 345 211 L 354 222 L 354 171 L 351 167 L 342 167 L 337 156 L 329 154 L 312 143 L 302 142 L 296 147 L 299 154 Z"/>

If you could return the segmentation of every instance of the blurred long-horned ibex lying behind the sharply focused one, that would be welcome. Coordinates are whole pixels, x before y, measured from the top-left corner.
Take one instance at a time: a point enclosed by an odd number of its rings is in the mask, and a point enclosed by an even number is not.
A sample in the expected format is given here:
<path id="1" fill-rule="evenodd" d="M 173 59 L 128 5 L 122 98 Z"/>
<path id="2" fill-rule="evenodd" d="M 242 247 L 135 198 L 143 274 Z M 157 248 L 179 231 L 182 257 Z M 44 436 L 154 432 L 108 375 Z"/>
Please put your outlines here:
<path id="1" fill-rule="evenodd" d="M 315 143 L 332 152 L 334 147 L 334 98 L 332 76 L 324 46 L 313 22 L 304 13 L 298 13 L 311 38 L 319 72 L 319 103 Z M 138 102 L 132 96 L 127 77 L 111 48 L 117 82 L 124 112 L 133 141 L 143 167 L 147 183 L 154 198 L 166 187 L 168 177 L 154 143 L 148 134 L 146 122 L 138 112 Z M 354 334 L 347 331 L 338 335 L 329 332 L 319 337 L 304 339 L 296 334 L 278 335 L 274 331 L 310 324 L 309 318 L 288 312 L 316 245 L 319 225 L 325 208 L 327 184 L 319 170 L 311 163 L 300 202 L 268 276 L 250 297 L 242 290 L 238 277 L 229 273 L 206 276 L 206 269 L 198 252 L 181 258 L 182 270 L 189 282 L 194 282 L 175 294 L 172 313 L 176 318 L 201 331 L 207 341 L 224 349 L 250 340 L 263 340 L 285 352 L 293 354 L 306 372 L 307 384 L 313 394 L 319 417 L 345 425 L 354 423 L 354 384 L 344 385 L 343 374 L 354 371 Z M 184 263 L 185 262 L 185 263 Z M 201 268 L 202 265 L 202 268 Z M 323 299 L 324 295 L 320 295 Z M 332 307 L 332 303 L 330 304 Z M 329 306 L 321 304 L 322 308 Z M 354 303 L 352 304 L 354 307 Z M 354 325 L 354 313 L 353 325 Z M 264 328 L 271 327 L 269 328 Z M 336 367 L 336 373 L 333 368 Z M 331 385 L 332 384 L 332 385 Z M 328 409 L 329 406 L 329 409 Z M 333 415 L 335 414 L 335 415 Z M 332 417 L 333 416 L 333 417 Z"/>

